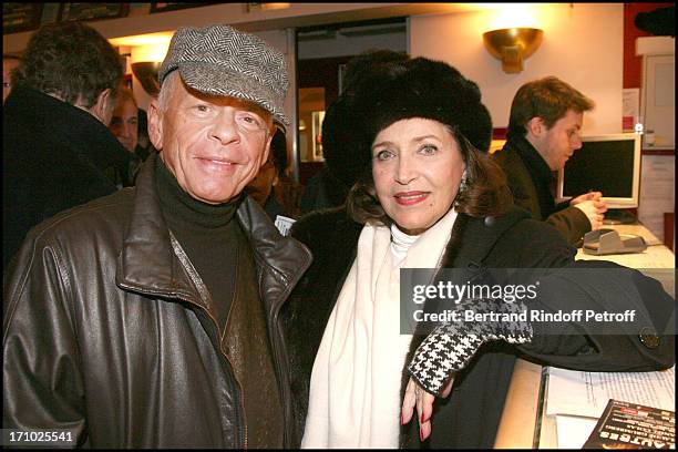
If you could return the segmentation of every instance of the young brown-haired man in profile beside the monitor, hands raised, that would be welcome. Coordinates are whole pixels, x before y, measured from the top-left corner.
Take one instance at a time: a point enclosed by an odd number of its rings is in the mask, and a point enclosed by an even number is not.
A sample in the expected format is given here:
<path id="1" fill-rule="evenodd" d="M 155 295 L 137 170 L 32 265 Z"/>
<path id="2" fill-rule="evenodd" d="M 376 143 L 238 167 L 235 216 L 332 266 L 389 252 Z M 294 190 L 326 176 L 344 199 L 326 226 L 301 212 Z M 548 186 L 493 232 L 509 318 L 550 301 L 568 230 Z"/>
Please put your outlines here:
<path id="1" fill-rule="evenodd" d="M 556 205 L 551 188 L 553 172 L 582 147 L 584 112 L 593 106 L 593 101 L 555 76 L 526 83 L 511 104 L 506 144 L 494 154 L 508 177 L 515 204 L 555 226 L 571 245 L 599 229 L 607 210 L 599 192 Z"/>

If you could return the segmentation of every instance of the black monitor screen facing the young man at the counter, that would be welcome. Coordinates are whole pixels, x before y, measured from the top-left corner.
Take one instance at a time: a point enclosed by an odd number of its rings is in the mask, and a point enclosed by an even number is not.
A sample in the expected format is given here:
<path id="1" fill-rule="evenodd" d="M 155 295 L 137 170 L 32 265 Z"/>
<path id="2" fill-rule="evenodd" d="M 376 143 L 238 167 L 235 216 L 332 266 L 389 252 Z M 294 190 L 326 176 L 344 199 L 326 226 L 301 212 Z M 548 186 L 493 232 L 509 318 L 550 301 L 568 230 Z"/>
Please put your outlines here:
<path id="1" fill-rule="evenodd" d="M 605 197 L 633 197 L 634 146 L 634 140 L 584 142 L 565 164 L 563 196 L 593 191 Z"/>

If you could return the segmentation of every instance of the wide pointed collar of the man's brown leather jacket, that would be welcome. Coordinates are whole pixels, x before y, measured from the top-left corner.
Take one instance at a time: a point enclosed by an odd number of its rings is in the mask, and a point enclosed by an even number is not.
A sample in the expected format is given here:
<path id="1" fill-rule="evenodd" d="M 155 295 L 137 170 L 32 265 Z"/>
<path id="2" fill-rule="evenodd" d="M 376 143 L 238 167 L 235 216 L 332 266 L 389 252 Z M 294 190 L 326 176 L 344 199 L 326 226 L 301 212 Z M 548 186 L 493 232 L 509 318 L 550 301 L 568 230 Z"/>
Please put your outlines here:
<path id="1" fill-rule="evenodd" d="M 124 289 L 205 306 L 206 300 L 192 281 L 188 269 L 174 253 L 176 239 L 165 224 L 155 193 L 155 158 L 160 158 L 157 154 L 146 160 L 136 181 L 132 216 L 117 261 L 116 284 Z M 253 245 L 261 294 L 277 305 L 288 286 L 296 284 L 310 266 L 310 251 L 291 237 L 281 237 L 261 207 L 249 197 L 240 204 L 236 215 Z"/>

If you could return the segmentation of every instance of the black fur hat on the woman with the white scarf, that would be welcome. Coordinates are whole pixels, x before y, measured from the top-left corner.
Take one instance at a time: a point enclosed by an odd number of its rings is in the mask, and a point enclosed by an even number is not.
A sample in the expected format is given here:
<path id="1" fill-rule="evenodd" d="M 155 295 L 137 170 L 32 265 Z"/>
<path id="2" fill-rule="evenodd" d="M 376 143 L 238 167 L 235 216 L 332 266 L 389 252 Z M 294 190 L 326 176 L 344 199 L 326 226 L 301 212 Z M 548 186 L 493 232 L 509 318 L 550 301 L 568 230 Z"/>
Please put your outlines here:
<path id="1" fill-rule="evenodd" d="M 355 107 L 363 124 L 362 152 L 380 131 L 409 117 L 446 124 L 479 151 L 487 152 L 492 120 L 477 84 L 440 61 L 417 58 L 403 66 L 403 71 L 382 73 L 360 86 Z"/>

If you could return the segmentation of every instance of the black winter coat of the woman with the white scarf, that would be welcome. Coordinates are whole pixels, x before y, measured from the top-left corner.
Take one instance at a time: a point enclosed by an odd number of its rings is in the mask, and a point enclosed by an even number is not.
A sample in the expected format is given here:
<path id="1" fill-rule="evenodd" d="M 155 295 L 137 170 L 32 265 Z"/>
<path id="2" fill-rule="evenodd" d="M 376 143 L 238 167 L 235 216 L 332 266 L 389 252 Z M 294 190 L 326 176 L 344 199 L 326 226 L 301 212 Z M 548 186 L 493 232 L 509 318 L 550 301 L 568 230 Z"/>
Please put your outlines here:
<path id="1" fill-rule="evenodd" d="M 448 244 L 443 267 L 446 268 L 528 268 L 572 265 L 575 249 L 549 225 L 528 218 L 514 208 L 494 222 L 460 214 Z M 292 227 L 292 236 L 306 244 L 314 264 L 295 288 L 281 310 L 282 327 L 290 356 L 297 441 L 304 433 L 308 409 L 308 390 L 316 352 L 331 310 L 356 257 L 362 226 L 347 217 L 346 210 L 335 209 L 308 215 Z M 581 263 L 581 266 L 596 264 Z M 612 263 L 599 266 L 616 267 Z M 659 282 L 636 270 L 622 284 L 589 281 L 605 287 L 604 301 L 587 292 L 579 297 L 562 294 L 554 304 L 567 304 L 567 309 L 598 307 L 615 302 L 630 287 L 647 286 L 649 296 L 643 302 L 656 306 L 655 322 L 666 322 L 672 312 L 672 300 Z M 603 286 L 600 286 L 603 285 Z M 574 291 L 573 291 L 574 294 Z M 657 323 L 655 323 L 657 325 Z M 564 325 L 564 330 L 572 326 Z M 565 331 L 564 331 L 565 332 Z M 544 364 L 582 370 L 656 370 L 674 362 L 674 339 L 662 337 L 656 349 L 639 339 L 640 331 L 624 331 L 626 336 L 549 336 L 530 346 L 515 347 L 505 342 L 484 345 L 470 366 L 458 373 L 449 399 L 439 400 L 432 418 L 431 438 L 423 444 L 431 448 L 492 448 L 504 399 L 516 357 Z M 423 340 L 415 336 L 407 362 Z M 402 388 L 409 376 L 403 369 Z M 401 429 L 401 445 L 419 448 L 419 428 L 411 421 Z"/>

